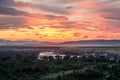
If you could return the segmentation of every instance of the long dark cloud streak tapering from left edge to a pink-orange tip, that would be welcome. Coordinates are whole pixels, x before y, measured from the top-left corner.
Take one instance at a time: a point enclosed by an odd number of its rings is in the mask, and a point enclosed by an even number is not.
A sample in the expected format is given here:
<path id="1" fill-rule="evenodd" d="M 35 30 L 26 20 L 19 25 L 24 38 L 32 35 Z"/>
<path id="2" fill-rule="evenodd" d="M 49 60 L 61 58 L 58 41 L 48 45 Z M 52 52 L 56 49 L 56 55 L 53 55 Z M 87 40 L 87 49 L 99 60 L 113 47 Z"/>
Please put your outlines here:
<path id="1" fill-rule="evenodd" d="M 54 15 L 42 15 L 42 14 L 30 14 L 24 11 L 18 11 L 14 8 L 0 6 L 0 14 L 2 15 L 12 15 L 12 16 L 26 16 L 26 17 L 35 17 L 35 18 L 45 18 L 49 20 L 53 19 L 64 19 L 68 20 L 67 17 L 64 16 L 54 16 Z"/>

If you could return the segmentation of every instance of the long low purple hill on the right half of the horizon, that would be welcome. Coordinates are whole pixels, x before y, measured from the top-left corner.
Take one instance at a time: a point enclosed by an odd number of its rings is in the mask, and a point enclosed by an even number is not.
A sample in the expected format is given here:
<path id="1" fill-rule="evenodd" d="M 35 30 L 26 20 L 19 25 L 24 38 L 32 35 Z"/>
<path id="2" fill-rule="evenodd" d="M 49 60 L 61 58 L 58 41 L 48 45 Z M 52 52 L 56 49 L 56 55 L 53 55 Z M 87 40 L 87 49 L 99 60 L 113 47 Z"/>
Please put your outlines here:
<path id="1" fill-rule="evenodd" d="M 61 44 L 79 46 L 120 46 L 120 40 L 82 40 L 63 42 Z"/>

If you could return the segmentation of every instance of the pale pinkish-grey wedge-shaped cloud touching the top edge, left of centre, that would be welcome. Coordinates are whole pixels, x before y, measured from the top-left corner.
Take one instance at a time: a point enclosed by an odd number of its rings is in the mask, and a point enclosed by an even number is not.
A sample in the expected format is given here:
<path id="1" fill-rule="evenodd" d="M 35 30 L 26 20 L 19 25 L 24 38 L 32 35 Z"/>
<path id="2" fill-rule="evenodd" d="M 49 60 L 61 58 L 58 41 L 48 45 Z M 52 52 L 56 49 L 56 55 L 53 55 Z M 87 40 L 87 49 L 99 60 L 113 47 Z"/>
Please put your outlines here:
<path id="1" fill-rule="evenodd" d="M 34 1 L 33 3 L 29 1 L 20 2 L 25 2 L 29 6 L 37 10 L 64 15 L 70 13 L 68 8 L 72 8 L 71 0 L 38 0 L 37 2 Z"/>

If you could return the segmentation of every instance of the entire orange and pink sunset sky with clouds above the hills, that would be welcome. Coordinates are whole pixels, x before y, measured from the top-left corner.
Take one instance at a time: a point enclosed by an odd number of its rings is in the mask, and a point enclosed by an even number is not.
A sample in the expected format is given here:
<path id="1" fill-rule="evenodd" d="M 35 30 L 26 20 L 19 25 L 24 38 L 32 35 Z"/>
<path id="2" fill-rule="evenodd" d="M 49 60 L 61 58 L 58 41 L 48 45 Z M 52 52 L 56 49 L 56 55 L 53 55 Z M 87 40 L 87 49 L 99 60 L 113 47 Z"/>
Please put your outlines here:
<path id="1" fill-rule="evenodd" d="M 120 40 L 120 0 L 0 0 L 0 40 Z"/>

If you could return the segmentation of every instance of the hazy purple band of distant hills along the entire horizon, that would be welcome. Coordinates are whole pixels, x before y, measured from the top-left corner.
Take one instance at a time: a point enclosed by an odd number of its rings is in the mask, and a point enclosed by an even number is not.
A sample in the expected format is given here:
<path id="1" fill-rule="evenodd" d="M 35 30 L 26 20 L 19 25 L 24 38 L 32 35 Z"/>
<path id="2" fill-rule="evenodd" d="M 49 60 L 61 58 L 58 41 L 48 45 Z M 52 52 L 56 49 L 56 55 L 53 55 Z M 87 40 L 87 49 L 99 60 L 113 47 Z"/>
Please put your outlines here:
<path id="1" fill-rule="evenodd" d="M 120 40 L 81 40 L 61 43 L 42 41 L 0 41 L 0 46 L 120 46 Z"/>

